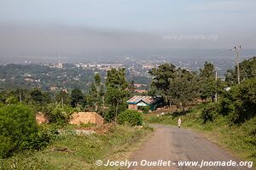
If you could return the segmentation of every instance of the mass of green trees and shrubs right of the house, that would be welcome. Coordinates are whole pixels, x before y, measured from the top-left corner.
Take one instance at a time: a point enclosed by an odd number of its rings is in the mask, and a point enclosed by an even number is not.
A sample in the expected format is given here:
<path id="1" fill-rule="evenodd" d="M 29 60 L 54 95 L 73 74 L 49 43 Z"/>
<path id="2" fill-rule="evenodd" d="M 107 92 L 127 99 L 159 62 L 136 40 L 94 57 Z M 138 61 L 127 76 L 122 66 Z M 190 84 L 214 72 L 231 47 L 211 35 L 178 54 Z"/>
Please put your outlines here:
<path id="1" fill-rule="evenodd" d="M 256 111 L 256 57 L 243 60 L 239 66 L 241 84 L 237 83 L 236 67 L 227 71 L 223 81 L 209 62 L 195 72 L 172 64 L 160 65 L 149 71 L 153 77 L 149 94 L 160 95 L 166 105 L 183 109 L 196 99 L 212 101 L 202 111 L 204 122 L 218 116 L 226 116 L 230 124 L 246 122 Z"/>

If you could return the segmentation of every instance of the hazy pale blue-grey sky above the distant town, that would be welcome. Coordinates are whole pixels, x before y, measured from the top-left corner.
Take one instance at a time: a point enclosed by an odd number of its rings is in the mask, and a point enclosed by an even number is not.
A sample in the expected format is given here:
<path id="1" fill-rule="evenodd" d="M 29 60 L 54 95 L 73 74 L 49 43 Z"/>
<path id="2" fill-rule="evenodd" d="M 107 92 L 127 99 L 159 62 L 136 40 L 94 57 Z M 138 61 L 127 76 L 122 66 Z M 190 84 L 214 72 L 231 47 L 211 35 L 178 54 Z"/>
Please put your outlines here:
<path id="1" fill-rule="evenodd" d="M 0 0 L 0 55 L 256 47 L 255 0 Z"/>

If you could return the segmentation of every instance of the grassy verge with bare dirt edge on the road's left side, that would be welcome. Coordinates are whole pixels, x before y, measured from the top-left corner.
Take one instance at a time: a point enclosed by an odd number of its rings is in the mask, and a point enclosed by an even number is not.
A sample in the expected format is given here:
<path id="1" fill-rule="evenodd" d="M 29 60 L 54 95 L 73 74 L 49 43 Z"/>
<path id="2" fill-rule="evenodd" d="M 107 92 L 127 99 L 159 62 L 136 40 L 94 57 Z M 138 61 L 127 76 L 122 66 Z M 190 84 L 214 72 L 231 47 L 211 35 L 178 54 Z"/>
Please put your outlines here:
<path id="1" fill-rule="evenodd" d="M 105 134 L 59 134 L 44 150 L 24 151 L 0 160 L 0 169 L 120 169 L 97 167 L 95 162 L 102 160 L 104 163 L 108 159 L 125 161 L 152 130 L 147 126 L 138 128 L 117 125 Z"/>

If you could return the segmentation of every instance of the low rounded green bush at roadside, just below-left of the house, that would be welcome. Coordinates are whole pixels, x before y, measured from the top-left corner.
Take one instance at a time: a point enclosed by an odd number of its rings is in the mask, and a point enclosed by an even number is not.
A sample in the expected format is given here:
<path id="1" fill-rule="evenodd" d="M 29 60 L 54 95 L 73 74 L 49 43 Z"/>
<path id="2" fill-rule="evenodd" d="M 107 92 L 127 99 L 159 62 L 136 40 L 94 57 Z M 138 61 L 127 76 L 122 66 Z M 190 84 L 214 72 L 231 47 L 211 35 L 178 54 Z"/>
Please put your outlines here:
<path id="1" fill-rule="evenodd" d="M 126 110 L 119 114 L 117 121 L 119 124 L 130 124 L 131 126 L 138 126 L 143 124 L 143 116 L 140 112 Z"/>

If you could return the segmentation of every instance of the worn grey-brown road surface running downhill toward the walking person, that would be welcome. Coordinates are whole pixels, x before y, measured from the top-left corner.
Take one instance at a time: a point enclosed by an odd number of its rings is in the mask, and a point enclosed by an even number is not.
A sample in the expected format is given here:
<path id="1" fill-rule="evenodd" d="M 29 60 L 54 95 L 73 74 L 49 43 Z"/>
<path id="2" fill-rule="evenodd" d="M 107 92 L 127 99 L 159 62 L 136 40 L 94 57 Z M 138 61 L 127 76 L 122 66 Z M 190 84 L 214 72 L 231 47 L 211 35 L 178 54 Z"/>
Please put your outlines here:
<path id="1" fill-rule="evenodd" d="M 166 125 L 153 125 L 154 135 L 132 156 L 131 161 L 137 161 L 137 166 L 131 170 L 161 170 L 161 169 L 253 169 L 246 166 L 232 167 L 201 167 L 201 161 L 238 161 L 217 144 L 208 141 L 199 133 Z M 169 166 L 159 163 L 158 166 L 141 166 L 145 161 L 171 161 Z M 178 166 L 178 161 L 199 161 L 197 166 Z"/>

